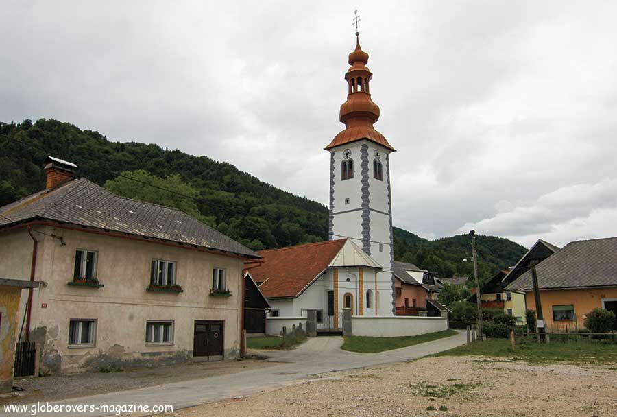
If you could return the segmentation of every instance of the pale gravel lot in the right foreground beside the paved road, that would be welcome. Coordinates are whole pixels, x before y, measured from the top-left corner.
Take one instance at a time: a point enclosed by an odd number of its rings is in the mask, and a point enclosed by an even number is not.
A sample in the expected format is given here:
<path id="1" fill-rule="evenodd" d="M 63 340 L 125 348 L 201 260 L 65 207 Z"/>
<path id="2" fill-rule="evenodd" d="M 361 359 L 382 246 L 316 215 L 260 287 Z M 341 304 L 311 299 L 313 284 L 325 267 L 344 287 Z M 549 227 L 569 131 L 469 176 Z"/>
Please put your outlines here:
<path id="1" fill-rule="evenodd" d="M 167 416 L 617 415 L 614 366 L 429 357 L 319 377 L 322 380 L 179 410 Z"/>

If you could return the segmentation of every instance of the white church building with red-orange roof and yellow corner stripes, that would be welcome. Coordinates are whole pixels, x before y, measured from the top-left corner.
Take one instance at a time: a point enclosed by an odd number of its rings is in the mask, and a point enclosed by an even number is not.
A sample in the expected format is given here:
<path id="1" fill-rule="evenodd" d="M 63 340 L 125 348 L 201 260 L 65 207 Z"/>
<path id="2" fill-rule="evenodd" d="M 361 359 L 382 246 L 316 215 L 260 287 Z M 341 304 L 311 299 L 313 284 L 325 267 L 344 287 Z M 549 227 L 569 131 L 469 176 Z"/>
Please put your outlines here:
<path id="1" fill-rule="evenodd" d="M 250 272 L 269 302 L 270 317 L 302 318 L 316 309 L 318 328 L 340 329 L 343 307 L 352 315 L 391 311 L 391 305 L 378 303 L 381 266 L 351 239 L 258 253 L 263 264 Z"/>

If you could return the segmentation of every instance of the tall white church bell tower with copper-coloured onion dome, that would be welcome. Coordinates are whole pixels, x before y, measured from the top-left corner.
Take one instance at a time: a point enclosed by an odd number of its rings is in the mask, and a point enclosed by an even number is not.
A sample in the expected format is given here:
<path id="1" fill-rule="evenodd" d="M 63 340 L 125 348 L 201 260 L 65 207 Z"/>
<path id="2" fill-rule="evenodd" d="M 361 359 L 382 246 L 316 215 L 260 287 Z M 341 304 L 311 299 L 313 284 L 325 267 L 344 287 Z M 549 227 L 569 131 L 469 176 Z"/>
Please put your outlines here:
<path id="1" fill-rule="evenodd" d="M 329 239 L 352 239 L 382 267 L 377 274 L 377 314 L 394 315 L 394 236 L 389 155 L 395 152 L 374 129 L 379 107 L 372 101 L 366 67 L 368 53 L 360 47 L 349 54 L 345 74 L 347 101 L 339 119 L 346 128 L 325 147 L 330 152 Z"/>

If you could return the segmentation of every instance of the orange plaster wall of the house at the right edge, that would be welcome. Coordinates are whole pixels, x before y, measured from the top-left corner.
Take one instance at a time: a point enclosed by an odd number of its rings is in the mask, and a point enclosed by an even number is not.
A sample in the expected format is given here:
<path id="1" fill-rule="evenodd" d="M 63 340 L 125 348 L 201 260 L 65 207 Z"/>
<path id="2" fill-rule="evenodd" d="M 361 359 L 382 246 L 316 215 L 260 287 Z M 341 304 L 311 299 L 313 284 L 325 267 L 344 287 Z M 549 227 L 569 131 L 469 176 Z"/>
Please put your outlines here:
<path id="1" fill-rule="evenodd" d="M 533 291 L 525 294 L 527 308 L 535 310 L 535 298 Z M 596 308 L 602 308 L 602 300 L 605 298 L 617 298 L 617 288 L 585 288 L 585 289 L 555 289 L 540 291 L 542 313 L 544 323 L 549 330 L 570 330 L 585 327 L 585 315 Z M 574 305 L 575 322 L 553 322 L 553 305 Z"/>

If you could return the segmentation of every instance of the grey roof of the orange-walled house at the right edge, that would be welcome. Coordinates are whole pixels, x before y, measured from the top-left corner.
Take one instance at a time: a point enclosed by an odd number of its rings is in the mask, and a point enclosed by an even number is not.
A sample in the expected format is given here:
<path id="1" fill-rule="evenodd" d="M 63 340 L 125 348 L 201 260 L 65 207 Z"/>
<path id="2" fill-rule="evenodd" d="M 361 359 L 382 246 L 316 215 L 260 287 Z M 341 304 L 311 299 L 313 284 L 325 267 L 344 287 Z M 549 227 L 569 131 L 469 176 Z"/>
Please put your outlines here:
<path id="1" fill-rule="evenodd" d="M 540 289 L 617 286 L 617 237 L 568 243 L 537 265 Z M 531 271 L 527 270 L 506 287 L 531 291 Z"/>

